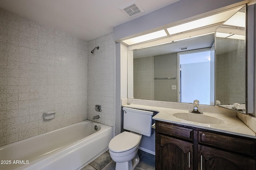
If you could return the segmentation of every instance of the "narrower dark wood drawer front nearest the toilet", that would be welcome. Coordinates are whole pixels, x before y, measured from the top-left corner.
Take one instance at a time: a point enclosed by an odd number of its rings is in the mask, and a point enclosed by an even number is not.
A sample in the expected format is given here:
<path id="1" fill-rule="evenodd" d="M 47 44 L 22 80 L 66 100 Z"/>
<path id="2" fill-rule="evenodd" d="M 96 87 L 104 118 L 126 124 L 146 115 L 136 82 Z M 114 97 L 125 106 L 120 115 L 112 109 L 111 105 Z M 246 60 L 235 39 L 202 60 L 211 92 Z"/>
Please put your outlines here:
<path id="1" fill-rule="evenodd" d="M 193 129 L 169 125 L 166 123 L 157 123 L 156 126 L 158 133 L 163 133 L 166 135 L 171 135 L 174 137 L 179 137 L 182 139 L 193 141 Z"/>

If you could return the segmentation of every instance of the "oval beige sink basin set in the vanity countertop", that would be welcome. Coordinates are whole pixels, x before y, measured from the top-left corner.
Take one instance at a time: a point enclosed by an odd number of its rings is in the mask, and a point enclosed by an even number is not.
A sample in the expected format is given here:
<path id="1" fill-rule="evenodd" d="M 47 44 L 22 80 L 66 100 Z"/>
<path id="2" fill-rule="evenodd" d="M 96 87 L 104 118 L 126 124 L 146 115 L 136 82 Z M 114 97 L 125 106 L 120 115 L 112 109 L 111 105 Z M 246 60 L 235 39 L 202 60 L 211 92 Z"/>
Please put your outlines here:
<path id="1" fill-rule="evenodd" d="M 211 116 L 206 116 L 206 115 L 196 114 L 196 113 L 174 113 L 173 116 L 179 119 L 194 121 L 198 123 L 209 123 L 209 124 L 224 123 L 223 120 L 218 119 L 216 117 L 211 117 Z"/>

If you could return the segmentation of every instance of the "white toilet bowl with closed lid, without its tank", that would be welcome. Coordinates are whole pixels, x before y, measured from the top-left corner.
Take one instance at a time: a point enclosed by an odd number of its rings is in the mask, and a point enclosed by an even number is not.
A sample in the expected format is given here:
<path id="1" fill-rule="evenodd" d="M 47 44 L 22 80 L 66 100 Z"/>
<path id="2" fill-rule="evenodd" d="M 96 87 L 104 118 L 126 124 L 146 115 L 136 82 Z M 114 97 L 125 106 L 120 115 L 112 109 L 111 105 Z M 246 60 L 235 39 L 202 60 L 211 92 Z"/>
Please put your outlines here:
<path id="1" fill-rule="evenodd" d="M 111 139 L 109 153 L 116 162 L 116 170 L 134 170 L 140 162 L 138 149 L 142 135 L 131 132 L 122 132 Z"/>

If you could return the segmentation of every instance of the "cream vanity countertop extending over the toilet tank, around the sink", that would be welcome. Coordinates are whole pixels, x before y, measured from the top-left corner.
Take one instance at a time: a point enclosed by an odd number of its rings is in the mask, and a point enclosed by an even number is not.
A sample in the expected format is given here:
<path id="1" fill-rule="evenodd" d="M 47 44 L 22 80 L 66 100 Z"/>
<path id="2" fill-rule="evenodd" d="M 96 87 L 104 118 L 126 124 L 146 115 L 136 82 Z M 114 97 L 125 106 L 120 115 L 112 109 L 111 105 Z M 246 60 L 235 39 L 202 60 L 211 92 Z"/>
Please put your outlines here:
<path id="1" fill-rule="evenodd" d="M 137 104 L 130 104 L 130 105 L 126 104 L 126 105 L 122 105 L 122 107 L 157 111 L 158 113 L 153 117 L 153 119 L 158 121 L 165 121 L 165 122 L 176 123 L 180 125 L 187 125 L 191 127 L 208 129 L 212 131 L 230 133 L 230 134 L 244 136 L 244 137 L 256 138 L 256 134 L 248 126 L 246 126 L 240 119 L 238 119 L 238 117 L 236 117 L 236 114 L 207 113 L 206 111 L 204 111 L 203 115 L 216 117 L 224 121 L 224 123 L 222 124 L 209 124 L 209 123 L 198 123 L 198 122 L 186 121 L 184 119 L 178 119 L 177 117 L 173 116 L 174 113 L 189 113 L 188 110 L 183 110 L 183 109 L 170 109 L 170 108 L 164 108 L 164 107 L 154 107 L 154 106 L 145 106 L 145 105 L 137 105 Z M 190 113 L 190 114 L 196 114 L 196 113 Z"/>

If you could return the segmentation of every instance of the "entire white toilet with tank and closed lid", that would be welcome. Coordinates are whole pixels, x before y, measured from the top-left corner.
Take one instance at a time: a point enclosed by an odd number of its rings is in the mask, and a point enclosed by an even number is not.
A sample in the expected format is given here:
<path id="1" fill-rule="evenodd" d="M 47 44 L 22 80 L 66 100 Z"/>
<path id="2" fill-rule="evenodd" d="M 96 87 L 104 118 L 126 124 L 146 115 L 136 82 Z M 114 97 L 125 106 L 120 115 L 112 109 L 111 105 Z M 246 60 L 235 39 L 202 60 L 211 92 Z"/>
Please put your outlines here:
<path id="1" fill-rule="evenodd" d="M 153 111 L 123 107 L 124 131 L 111 139 L 108 149 L 116 170 L 134 170 L 140 162 L 138 149 L 142 135 L 153 134 L 151 125 Z"/>

